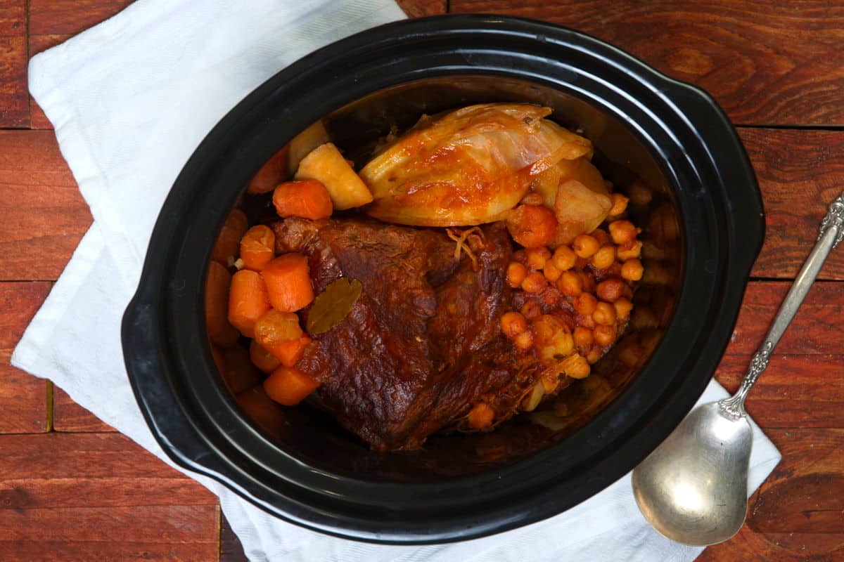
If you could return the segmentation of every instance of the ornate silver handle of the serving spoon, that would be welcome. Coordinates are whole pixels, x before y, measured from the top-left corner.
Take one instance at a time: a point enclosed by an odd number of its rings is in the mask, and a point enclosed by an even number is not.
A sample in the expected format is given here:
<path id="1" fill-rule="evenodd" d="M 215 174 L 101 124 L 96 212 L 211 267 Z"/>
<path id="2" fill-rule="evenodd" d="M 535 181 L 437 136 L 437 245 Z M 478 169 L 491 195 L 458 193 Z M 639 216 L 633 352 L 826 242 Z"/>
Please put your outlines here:
<path id="1" fill-rule="evenodd" d="M 797 313 L 797 309 L 800 308 L 803 299 L 809 292 L 809 287 L 812 286 L 821 266 L 824 265 L 826 256 L 841 242 L 842 238 L 844 238 L 844 192 L 830 203 L 829 211 L 826 211 L 824 220 L 820 222 L 818 241 L 814 244 L 809 257 L 806 258 L 806 262 L 798 273 L 797 279 L 794 280 L 791 289 L 788 290 L 785 300 L 782 301 L 771 324 L 771 329 L 765 336 L 765 341 L 762 342 L 759 351 L 756 351 L 753 359 L 750 360 L 750 367 L 742 379 L 741 386 L 738 387 L 733 396 L 718 402 L 723 413 L 732 418 L 745 415 L 744 399 L 747 398 L 750 388 L 753 388 L 756 379 L 768 367 L 771 351 L 774 351 L 774 347 L 785 334 L 788 324 L 791 324 L 794 314 Z"/>

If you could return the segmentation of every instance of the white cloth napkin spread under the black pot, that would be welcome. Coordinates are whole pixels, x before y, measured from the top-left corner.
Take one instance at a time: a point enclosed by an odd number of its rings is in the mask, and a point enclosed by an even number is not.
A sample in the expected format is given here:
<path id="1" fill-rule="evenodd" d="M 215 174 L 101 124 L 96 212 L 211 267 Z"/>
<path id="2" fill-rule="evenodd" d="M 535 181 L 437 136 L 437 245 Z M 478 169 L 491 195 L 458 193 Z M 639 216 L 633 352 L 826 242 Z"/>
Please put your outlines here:
<path id="1" fill-rule="evenodd" d="M 94 225 L 14 351 L 78 404 L 170 463 L 150 434 L 123 367 L 120 321 L 160 205 L 219 118 L 264 80 L 319 46 L 403 18 L 392 0 L 141 0 L 35 56 L 30 91 L 56 129 Z M 711 383 L 701 400 L 726 395 Z M 749 493 L 780 455 L 754 425 Z M 176 467 L 178 468 L 178 467 Z M 544 522 L 463 543 L 383 546 L 283 522 L 221 484 L 252 560 L 690 560 L 641 517 L 627 475 Z"/>

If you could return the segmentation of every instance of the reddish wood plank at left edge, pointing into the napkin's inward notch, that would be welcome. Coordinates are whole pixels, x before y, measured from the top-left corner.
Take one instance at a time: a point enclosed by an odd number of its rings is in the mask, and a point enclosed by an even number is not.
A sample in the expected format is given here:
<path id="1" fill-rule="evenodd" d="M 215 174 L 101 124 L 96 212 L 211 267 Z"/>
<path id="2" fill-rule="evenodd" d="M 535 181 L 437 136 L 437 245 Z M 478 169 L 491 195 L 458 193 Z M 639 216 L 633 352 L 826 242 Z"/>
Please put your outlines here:
<path id="1" fill-rule="evenodd" d="M 57 279 L 91 223 L 52 131 L 0 131 L 0 280 Z"/>

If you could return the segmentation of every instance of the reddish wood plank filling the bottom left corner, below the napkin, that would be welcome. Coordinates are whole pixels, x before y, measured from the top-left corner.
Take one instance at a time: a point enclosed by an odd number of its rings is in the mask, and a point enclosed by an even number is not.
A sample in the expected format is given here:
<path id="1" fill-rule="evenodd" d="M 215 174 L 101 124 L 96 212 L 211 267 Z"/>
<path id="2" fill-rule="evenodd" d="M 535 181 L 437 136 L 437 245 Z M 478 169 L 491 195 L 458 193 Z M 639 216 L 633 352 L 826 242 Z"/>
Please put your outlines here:
<path id="1" fill-rule="evenodd" d="M 216 496 L 125 436 L 0 436 L 0 450 L 0 559 L 219 555 Z"/>

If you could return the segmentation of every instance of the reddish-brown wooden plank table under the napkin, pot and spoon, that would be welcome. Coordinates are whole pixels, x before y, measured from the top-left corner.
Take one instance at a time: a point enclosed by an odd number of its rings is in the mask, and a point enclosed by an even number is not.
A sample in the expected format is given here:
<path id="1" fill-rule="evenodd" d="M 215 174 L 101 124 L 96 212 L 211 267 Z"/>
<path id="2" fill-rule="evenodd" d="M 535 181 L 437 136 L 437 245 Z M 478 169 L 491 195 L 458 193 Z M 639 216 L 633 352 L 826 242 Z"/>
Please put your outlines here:
<path id="1" fill-rule="evenodd" d="M 29 56 L 127 0 L 0 0 L 0 560 L 242 560 L 214 495 L 8 365 L 91 217 L 26 88 Z M 715 95 L 738 126 L 767 238 L 717 379 L 733 390 L 844 187 L 844 4 L 403 0 L 582 29 Z M 749 413 L 782 452 L 736 538 L 701 560 L 844 560 L 844 250 L 809 292 Z"/>

